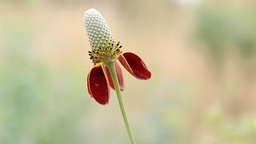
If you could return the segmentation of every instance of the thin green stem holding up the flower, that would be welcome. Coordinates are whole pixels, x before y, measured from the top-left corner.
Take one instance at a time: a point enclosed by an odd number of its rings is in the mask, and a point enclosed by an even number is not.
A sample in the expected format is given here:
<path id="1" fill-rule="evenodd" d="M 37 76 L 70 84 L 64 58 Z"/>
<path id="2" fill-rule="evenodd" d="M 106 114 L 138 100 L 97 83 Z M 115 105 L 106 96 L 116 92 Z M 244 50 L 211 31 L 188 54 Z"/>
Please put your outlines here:
<path id="1" fill-rule="evenodd" d="M 109 62 L 106 66 L 110 70 L 110 75 L 111 75 L 111 78 L 113 80 L 114 88 L 115 88 L 115 91 L 116 91 L 117 96 L 118 96 L 119 106 L 120 106 L 120 109 L 122 111 L 122 118 L 123 118 L 124 122 L 126 123 L 126 130 L 128 132 L 129 138 L 130 138 L 130 143 L 134 144 L 135 143 L 134 142 L 134 136 L 133 136 L 133 134 L 130 130 L 130 125 L 129 125 L 129 122 L 128 122 L 128 119 L 127 119 L 127 116 L 126 116 L 126 110 L 125 110 L 125 107 L 122 103 L 121 90 L 120 90 L 120 86 L 119 86 L 119 82 L 118 82 L 118 75 L 117 75 L 117 72 L 115 70 L 114 62 Z"/>

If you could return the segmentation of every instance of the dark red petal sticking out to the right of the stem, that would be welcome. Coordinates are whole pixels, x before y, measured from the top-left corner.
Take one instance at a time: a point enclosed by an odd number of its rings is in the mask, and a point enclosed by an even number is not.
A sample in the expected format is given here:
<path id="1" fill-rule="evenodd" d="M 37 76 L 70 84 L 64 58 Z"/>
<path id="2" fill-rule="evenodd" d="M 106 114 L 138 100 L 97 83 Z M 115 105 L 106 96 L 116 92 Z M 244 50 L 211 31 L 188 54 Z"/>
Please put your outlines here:
<path id="1" fill-rule="evenodd" d="M 150 70 L 147 69 L 142 58 L 139 58 L 138 55 L 131 52 L 125 52 L 120 54 L 118 60 L 130 74 L 134 75 L 135 78 L 143 80 L 150 79 Z"/>

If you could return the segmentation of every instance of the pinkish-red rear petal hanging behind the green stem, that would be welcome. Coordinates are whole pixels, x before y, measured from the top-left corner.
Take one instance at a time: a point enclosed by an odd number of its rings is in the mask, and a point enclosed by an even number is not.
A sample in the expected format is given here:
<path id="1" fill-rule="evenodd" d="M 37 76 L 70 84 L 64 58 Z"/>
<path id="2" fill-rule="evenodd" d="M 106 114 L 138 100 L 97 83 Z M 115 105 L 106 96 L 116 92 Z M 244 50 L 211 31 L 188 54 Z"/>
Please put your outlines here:
<path id="1" fill-rule="evenodd" d="M 118 74 L 118 82 L 119 82 L 120 90 L 124 90 L 121 67 L 119 66 L 118 62 L 114 62 L 114 66 L 115 66 L 115 70 Z M 110 75 L 110 70 L 107 68 L 107 66 L 105 66 L 105 68 L 106 68 L 107 78 L 109 79 L 110 87 L 112 89 L 114 89 L 114 83 L 113 83 L 113 80 L 112 80 L 111 75 Z"/>

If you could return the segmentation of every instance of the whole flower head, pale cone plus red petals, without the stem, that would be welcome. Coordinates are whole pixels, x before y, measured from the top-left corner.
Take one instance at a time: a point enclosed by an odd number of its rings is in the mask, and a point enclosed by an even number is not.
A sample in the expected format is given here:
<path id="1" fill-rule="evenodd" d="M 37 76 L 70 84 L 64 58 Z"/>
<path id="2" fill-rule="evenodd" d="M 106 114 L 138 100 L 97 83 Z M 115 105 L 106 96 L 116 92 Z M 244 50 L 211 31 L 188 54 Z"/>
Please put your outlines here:
<path id="1" fill-rule="evenodd" d="M 86 10 L 84 22 L 92 49 L 89 51 L 89 55 L 94 63 L 87 75 L 87 89 L 91 97 L 98 103 L 107 104 L 110 98 L 110 87 L 114 89 L 110 70 L 106 66 L 110 62 L 114 62 L 121 90 L 124 90 L 124 83 L 117 59 L 135 78 L 146 80 L 151 77 L 150 71 L 138 55 L 122 52 L 120 42 L 114 42 L 102 14 L 94 9 Z"/>

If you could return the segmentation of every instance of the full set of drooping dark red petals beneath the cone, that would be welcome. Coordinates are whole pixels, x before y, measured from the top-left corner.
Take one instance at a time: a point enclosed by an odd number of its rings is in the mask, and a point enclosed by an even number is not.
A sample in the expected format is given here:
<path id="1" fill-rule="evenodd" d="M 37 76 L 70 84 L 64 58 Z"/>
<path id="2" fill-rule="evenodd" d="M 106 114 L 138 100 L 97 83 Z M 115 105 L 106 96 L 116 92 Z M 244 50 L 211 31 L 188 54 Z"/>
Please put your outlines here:
<path id="1" fill-rule="evenodd" d="M 146 64 L 138 55 L 125 52 L 119 55 L 119 62 L 132 74 L 135 78 L 146 80 L 151 77 L 150 71 Z M 124 90 L 122 78 L 122 70 L 118 62 L 114 62 L 116 72 L 118 74 L 118 82 L 121 90 Z M 110 76 L 110 71 L 104 63 L 96 64 L 87 75 L 87 89 L 89 94 L 100 104 L 105 105 L 109 102 L 110 87 L 114 89 L 114 83 Z"/>

